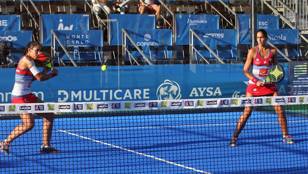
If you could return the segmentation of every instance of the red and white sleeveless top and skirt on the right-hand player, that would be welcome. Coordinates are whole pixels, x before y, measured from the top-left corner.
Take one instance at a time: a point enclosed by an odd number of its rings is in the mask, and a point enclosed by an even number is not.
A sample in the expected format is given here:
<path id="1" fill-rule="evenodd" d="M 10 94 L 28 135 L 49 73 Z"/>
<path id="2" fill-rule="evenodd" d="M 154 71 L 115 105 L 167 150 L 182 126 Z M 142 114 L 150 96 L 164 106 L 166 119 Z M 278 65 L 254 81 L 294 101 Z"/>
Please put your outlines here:
<path id="1" fill-rule="evenodd" d="M 268 71 L 273 67 L 274 56 L 269 46 L 268 49 L 268 57 L 263 58 L 259 53 L 258 46 L 256 46 L 256 56 L 252 64 L 252 75 L 257 78 L 258 81 L 265 81 Z M 264 96 L 275 92 L 278 92 L 278 89 L 274 83 L 269 83 L 262 87 L 259 87 L 252 80 L 248 81 L 246 93 L 252 94 L 254 96 Z"/>

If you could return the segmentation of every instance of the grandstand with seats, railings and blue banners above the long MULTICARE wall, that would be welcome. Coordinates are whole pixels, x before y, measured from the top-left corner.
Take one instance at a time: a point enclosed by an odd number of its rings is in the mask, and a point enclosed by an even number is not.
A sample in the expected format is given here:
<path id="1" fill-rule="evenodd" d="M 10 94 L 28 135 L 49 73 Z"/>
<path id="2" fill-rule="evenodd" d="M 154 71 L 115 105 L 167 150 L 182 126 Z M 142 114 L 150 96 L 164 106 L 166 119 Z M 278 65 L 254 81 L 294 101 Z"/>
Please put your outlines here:
<path id="1" fill-rule="evenodd" d="M 102 13 L 95 12 L 92 2 L 87 0 L 0 1 L 0 17 L 20 16 L 20 32 L 31 31 L 31 40 L 40 41 L 43 50 L 50 52 L 59 66 L 241 63 L 255 45 L 253 33 L 259 28 L 273 30 L 271 36 L 275 38 L 294 33 L 284 40 L 269 39 L 268 44 L 278 49 L 280 61 L 308 58 L 306 0 L 158 0 L 155 3 L 161 8 L 158 20 L 153 14 L 140 14 L 140 2 L 135 0 L 123 15 L 114 9 L 112 1 L 106 4 L 110 14 L 103 6 Z M 276 24 L 273 28 L 272 23 Z M 228 37 L 213 39 L 208 33 Z M 92 39 L 71 38 L 82 35 Z M 11 52 L 15 59 L 22 51 L 22 45 L 13 43 Z"/>

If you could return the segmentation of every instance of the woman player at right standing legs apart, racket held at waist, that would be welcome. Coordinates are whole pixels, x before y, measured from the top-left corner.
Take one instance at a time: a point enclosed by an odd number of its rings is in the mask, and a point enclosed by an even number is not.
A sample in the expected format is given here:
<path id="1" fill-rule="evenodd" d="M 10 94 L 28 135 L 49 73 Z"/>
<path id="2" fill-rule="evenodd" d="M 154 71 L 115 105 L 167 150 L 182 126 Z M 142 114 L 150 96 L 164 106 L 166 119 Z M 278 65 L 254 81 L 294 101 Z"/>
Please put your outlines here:
<path id="1" fill-rule="evenodd" d="M 246 97 L 260 97 L 260 96 L 279 96 L 278 89 L 275 83 L 265 84 L 267 72 L 278 64 L 277 50 L 266 45 L 267 32 L 263 29 L 257 32 L 258 46 L 249 50 L 247 60 L 245 62 L 243 71 L 249 79 Z M 252 72 L 249 69 L 252 66 Z M 274 105 L 274 109 L 278 115 L 279 124 L 282 129 L 282 140 L 286 143 L 294 143 L 293 139 L 288 134 L 286 116 L 281 105 Z M 245 106 L 244 112 L 238 120 L 234 135 L 229 142 L 229 146 L 236 146 L 237 139 L 244 128 L 248 118 L 253 112 L 253 106 Z"/>

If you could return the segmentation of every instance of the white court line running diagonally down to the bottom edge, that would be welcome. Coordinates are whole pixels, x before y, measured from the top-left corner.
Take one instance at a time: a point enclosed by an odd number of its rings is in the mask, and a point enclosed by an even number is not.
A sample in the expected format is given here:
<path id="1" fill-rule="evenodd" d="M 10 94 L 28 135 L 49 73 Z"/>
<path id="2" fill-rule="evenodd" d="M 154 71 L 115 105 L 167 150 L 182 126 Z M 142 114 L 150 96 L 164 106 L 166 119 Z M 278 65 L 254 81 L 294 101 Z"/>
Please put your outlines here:
<path id="1" fill-rule="evenodd" d="M 69 133 L 69 132 L 67 132 L 65 130 L 60 130 L 60 129 L 57 129 L 57 130 L 60 131 L 60 132 L 66 133 L 66 134 L 70 134 L 70 135 L 73 135 L 73 136 L 76 136 L 76 137 L 80 137 L 80 138 L 84 138 L 84 139 L 87 139 L 87 140 L 91 140 L 91 141 L 94 141 L 94 142 L 97 142 L 97 143 L 101 143 L 101 144 L 104 144 L 104 145 L 107 145 L 107 146 L 111 146 L 111 147 L 114 147 L 114 148 L 119 148 L 121 150 L 125 150 L 125 151 L 128 151 L 130 153 L 137 154 L 137 155 L 143 155 L 145 157 L 153 158 L 153 159 L 156 159 L 156 160 L 168 163 L 168 164 L 176 165 L 176 166 L 179 166 L 179 167 L 183 167 L 183 168 L 186 168 L 186 169 L 189 169 L 189 170 L 194 170 L 194 171 L 197 171 L 197 172 L 200 172 L 200 173 L 213 174 L 213 173 L 210 173 L 210 172 L 206 172 L 206 171 L 203 171 L 203 170 L 199 170 L 199 169 L 196 169 L 196 168 L 192 168 L 192 167 L 188 167 L 188 166 L 185 166 L 185 165 L 182 165 L 182 164 L 177 164 L 177 163 L 174 163 L 174 162 L 171 162 L 171 161 L 168 161 L 168 160 L 164 160 L 162 158 L 158 158 L 158 157 L 155 157 L 155 156 L 139 153 L 138 151 L 130 150 L 128 148 L 124 148 L 124 147 L 120 147 L 120 146 L 117 146 L 117 145 L 105 143 L 105 142 L 102 142 L 102 141 L 99 141 L 99 140 L 95 140 L 95 139 L 91 139 L 91 138 L 88 138 L 88 137 L 80 136 L 78 134 Z"/>

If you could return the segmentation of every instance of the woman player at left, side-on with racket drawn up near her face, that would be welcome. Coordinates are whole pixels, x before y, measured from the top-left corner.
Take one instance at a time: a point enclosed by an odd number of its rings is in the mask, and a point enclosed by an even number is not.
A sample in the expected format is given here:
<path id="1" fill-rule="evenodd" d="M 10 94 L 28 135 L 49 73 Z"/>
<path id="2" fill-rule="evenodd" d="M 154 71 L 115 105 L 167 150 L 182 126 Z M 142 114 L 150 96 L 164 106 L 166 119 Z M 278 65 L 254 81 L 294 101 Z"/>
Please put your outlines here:
<path id="1" fill-rule="evenodd" d="M 36 59 L 41 53 L 41 44 L 37 41 L 28 42 L 24 56 L 18 62 L 15 73 L 15 84 L 11 95 L 12 103 L 43 103 L 40 98 L 37 98 L 31 93 L 32 81 L 45 81 L 57 75 L 58 71 L 53 69 L 50 74 L 47 74 L 50 69 L 44 68 L 42 72 L 38 71 L 33 59 Z M 46 153 L 60 153 L 60 150 L 53 148 L 50 145 L 52 125 L 54 120 L 54 113 L 37 113 L 38 116 L 44 119 L 43 123 L 43 145 L 40 152 Z M 11 134 L 0 142 L 1 151 L 9 155 L 9 145 L 17 137 L 27 133 L 34 127 L 34 118 L 30 113 L 20 114 L 23 121 L 22 124 L 16 126 Z"/>

